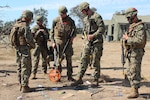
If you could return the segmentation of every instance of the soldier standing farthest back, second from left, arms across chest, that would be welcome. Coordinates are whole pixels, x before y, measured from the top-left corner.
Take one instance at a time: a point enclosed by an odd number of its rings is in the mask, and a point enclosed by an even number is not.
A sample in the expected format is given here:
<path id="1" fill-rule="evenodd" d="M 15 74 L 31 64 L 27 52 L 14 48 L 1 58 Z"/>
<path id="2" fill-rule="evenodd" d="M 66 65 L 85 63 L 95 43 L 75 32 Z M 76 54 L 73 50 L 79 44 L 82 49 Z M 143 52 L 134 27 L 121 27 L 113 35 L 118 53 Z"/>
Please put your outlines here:
<path id="1" fill-rule="evenodd" d="M 33 77 L 36 79 L 36 73 L 40 60 L 40 54 L 42 56 L 42 70 L 44 74 L 47 74 L 47 41 L 49 40 L 49 33 L 47 28 L 43 25 L 43 16 L 36 16 L 36 23 L 31 32 L 35 40 L 35 49 L 33 50 Z"/>

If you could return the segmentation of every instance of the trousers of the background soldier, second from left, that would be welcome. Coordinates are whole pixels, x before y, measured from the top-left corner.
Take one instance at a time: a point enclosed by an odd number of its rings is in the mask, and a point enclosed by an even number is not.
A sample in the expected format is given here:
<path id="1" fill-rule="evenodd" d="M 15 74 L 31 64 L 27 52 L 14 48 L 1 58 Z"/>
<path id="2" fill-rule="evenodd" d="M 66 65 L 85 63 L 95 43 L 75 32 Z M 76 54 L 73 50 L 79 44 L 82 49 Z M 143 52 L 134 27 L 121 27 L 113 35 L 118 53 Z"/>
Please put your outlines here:
<path id="1" fill-rule="evenodd" d="M 47 48 L 36 45 L 35 49 L 33 50 L 33 69 L 32 69 L 33 74 L 37 73 L 40 61 L 40 54 L 42 56 L 42 70 L 44 73 L 47 73 Z"/>

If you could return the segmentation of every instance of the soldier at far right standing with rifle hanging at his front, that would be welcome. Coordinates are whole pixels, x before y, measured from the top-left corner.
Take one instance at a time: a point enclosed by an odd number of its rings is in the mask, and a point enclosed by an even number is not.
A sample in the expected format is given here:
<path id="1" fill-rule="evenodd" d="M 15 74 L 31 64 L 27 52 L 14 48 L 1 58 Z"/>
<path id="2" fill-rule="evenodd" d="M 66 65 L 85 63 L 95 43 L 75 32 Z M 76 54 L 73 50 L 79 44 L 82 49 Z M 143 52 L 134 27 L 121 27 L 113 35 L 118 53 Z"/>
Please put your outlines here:
<path id="1" fill-rule="evenodd" d="M 136 8 L 128 8 L 125 16 L 130 24 L 127 34 L 123 35 L 124 44 L 127 50 L 128 67 L 127 77 L 131 85 L 131 91 L 128 98 L 137 98 L 139 96 L 141 80 L 141 63 L 146 45 L 146 33 L 142 20 L 137 17 Z"/>

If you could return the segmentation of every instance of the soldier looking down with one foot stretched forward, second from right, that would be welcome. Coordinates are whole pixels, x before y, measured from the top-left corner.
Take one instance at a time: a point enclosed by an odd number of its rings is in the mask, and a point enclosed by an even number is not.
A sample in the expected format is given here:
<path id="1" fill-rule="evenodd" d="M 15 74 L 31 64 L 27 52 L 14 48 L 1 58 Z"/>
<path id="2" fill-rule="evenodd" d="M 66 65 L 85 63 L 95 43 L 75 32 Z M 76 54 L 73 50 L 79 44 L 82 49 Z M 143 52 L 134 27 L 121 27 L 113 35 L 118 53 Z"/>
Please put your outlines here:
<path id="1" fill-rule="evenodd" d="M 91 49 L 93 49 L 93 68 L 94 82 L 93 85 L 98 86 L 98 79 L 100 77 L 100 59 L 103 51 L 103 37 L 102 34 L 105 31 L 105 26 L 102 17 L 92 11 L 89 7 L 89 3 L 83 2 L 79 5 L 79 9 L 86 17 L 84 18 L 84 32 L 87 38 L 85 39 L 85 46 L 82 51 L 80 71 L 78 73 L 77 81 L 72 83 L 72 86 L 83 84 L 82 78 L 87 69 L 89 62 L 89 55 L 91 54 Z M 96 82 L 96 84 L 95 84 Z"/>

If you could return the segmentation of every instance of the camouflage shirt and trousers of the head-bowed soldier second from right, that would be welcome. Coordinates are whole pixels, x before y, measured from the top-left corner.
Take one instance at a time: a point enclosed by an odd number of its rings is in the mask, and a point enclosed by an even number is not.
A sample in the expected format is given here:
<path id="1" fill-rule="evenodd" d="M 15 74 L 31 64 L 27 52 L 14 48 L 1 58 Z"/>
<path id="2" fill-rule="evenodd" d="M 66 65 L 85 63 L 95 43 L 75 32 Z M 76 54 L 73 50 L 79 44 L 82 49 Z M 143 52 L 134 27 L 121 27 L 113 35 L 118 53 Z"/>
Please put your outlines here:
<path id="1" fill-rule="evenodd" d="M 88 33 L 88 29 L 90 27 L 89 20 L 91 21 L 91 31 L 89 34 L 93 34 L 94 38 L 92 41 L 92 49 L 93 49 L 93 67 L 95 69 L 94 78 L 98 79 L 100 77 L 100 59 L 103 51 L 103 37 L 102 34 L 105 31 L 104 22 L 102 17 L 93 12 L 93 14 L 89 17 L 86 16 L 84 18 L 84 32 Z M 90 45 L 89 40 L 85 38 L 85 47 L 83 48 L 82 57 L 81 57 L 81 66 L 79 71 L 79 77 L 82 78 L 87 69 L 89 63 L 89 55 L 90 55 Z"/>

